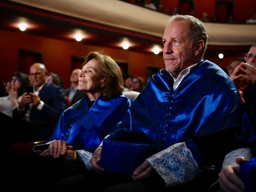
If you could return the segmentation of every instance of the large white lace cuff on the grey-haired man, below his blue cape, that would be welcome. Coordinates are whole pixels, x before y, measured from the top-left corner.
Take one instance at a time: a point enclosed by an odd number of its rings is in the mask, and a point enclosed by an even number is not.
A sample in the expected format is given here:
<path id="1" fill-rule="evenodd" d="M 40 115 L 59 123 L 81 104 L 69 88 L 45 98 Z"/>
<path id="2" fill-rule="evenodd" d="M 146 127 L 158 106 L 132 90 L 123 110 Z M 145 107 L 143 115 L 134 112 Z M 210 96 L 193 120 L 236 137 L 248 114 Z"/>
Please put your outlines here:
<path id="1" fill-rule="evenodd" d="M 163 178 L 166 187 L 184 184 L 201 173 L 185 143 L 175 143 L 147 161 Z"/>

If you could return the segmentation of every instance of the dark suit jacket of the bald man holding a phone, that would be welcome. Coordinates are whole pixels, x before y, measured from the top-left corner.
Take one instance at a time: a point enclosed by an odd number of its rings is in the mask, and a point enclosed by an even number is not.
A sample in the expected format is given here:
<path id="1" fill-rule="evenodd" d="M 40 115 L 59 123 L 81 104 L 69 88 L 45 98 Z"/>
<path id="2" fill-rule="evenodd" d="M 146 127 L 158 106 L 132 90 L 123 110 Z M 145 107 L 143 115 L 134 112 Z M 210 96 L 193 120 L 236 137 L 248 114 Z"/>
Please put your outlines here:
<path id="1" fill-rule="evenodd" d="M 48 140 L 62 111 L 67 108 L 65 93 L 60 86 L 47 82 L 38 96 L 44 101 L 44 106 L 41 110 L 33 106 L 30 111 L 31 140 L 34 141 Z M 26 109 L 19 113 L 15 108 L 13 109 L 13 118 L 21 119 L 25 113 Z"/>

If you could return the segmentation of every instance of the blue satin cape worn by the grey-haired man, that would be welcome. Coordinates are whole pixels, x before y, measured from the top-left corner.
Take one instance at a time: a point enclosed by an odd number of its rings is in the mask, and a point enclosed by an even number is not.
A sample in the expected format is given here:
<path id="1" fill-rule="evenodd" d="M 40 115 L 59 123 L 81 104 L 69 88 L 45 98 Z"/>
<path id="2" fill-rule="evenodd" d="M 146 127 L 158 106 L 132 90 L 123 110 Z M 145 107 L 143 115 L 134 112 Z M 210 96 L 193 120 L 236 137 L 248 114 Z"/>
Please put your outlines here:
<path id="1" fill-rule="evenodd" d="M 152 76 L 132 102 L 122 126 L 145 132 L 158 150 L 163 150 L 241 125 L 241 109 L 241 97 L 227 74 L 211 61 L 202 60 L 175 91 L 166 70 Z"/>

